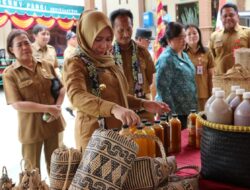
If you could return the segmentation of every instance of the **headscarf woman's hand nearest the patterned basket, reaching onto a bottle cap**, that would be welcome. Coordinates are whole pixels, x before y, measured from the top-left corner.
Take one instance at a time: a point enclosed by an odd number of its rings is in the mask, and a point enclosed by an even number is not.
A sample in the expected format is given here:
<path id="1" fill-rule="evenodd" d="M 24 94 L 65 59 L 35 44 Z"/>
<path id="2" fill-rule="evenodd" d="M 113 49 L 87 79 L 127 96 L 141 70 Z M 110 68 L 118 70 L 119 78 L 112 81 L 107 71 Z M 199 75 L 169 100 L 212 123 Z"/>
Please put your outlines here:
<path id="1" fill-rule="evenodd" d="M 135 125 L 140 123 L 140 117 L 133 111 L 119 105 L 113 106 L 111 113 L 119 119 L 123 125 Z"/>

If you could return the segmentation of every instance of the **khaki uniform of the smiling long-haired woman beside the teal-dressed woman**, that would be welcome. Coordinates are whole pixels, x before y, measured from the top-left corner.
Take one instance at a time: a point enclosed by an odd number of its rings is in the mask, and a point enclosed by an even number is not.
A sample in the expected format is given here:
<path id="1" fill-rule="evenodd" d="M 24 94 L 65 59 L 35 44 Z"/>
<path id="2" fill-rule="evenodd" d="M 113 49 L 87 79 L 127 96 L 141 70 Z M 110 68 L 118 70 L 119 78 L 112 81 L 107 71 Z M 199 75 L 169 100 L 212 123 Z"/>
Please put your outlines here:
<path id="1" fill-rule="evenodd" d="M 206 53 L 192 53 L 190 50 L 187 50 L 187 54 L 196 69 L 195 81 L 198 98 L 208 98 L 211 95 L 211 89 L 208 86 L 208 70 L 214 67 L 213 57 L 209 51 Z M 197 71 L 198 67 L 202 68 L 202 71 Z"/>

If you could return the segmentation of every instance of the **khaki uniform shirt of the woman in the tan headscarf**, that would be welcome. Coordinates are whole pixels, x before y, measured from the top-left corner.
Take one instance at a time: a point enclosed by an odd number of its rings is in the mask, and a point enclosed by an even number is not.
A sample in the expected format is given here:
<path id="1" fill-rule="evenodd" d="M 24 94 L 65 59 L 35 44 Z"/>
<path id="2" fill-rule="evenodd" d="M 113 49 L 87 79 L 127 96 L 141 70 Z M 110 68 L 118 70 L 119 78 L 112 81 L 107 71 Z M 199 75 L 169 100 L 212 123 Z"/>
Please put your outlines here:
<path id="1" fill-rule="evenodd" d="M 111 110 L 115 104 L 121 105 L 122 94 L 115 74 L 109 68 L 97 68 L 100 83 L 106 85 L 101 98 L 91 94 L 91 81 L 86 65 L 81 58 L 75 56 L 64 64 L 64 83 L 73 107 L 77 109 L 75 138 L 77 148 L 85 149 L 92 133 L 99 127 L 98 116 L 105 117 L 107 128 L 120 128 Z M 124 81 L 124 85 L 127 82 Z M 141 100 L 128 97 L 129 107 L 139 109 Z"/>

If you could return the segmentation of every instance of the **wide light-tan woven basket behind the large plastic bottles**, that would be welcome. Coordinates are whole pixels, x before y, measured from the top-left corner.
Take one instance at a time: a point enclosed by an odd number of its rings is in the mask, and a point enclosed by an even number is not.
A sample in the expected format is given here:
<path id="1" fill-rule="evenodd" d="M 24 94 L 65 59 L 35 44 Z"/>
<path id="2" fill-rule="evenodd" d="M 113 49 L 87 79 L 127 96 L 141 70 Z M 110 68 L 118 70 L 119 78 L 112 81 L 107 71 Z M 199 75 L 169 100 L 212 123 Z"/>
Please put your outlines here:
<path id="1" fill-rule="evenodd" d="M 250 71 L 240 64 L 235 64 L 226 74 L 213 76 L 213 86 L 220 87 L 228 96 L 231 86 L 239 85 L 246 91 L 250 91 Z"/>

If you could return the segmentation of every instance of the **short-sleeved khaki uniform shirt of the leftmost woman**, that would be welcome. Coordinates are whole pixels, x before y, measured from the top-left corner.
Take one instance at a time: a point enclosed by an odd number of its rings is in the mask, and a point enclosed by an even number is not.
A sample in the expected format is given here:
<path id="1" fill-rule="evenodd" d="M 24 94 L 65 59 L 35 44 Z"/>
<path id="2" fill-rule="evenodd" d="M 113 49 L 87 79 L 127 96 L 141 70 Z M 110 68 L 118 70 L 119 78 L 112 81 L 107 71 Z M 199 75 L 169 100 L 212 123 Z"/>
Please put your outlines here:
<path id="1" fill-rule="evenodd" d="M 15 62 L 3 73 L 7 104 L 18 101 L 55 104 L 50 90 L 51 79 L 55 77 L 55 71 L 50 64 L 35 62 L 32 72 Z M 18 111 L 18 134 L 22 144 L 40 142 L 64 130 L 65 122 L 62 116 L 50 123 L 43 121 L 42 116 L 43 113 Z"/>

